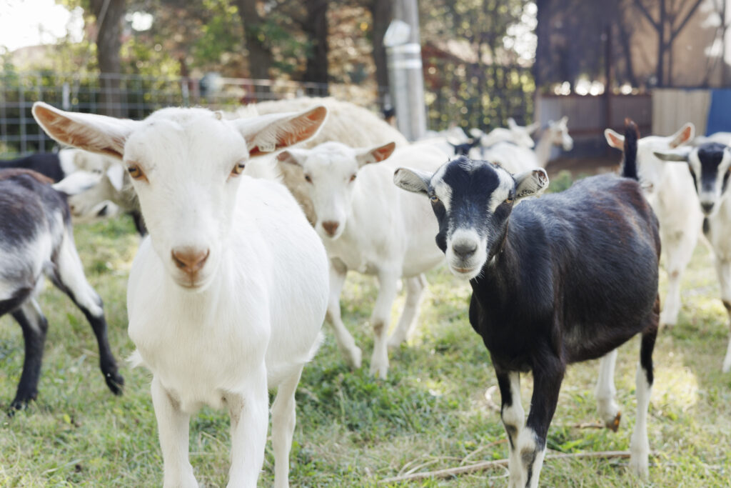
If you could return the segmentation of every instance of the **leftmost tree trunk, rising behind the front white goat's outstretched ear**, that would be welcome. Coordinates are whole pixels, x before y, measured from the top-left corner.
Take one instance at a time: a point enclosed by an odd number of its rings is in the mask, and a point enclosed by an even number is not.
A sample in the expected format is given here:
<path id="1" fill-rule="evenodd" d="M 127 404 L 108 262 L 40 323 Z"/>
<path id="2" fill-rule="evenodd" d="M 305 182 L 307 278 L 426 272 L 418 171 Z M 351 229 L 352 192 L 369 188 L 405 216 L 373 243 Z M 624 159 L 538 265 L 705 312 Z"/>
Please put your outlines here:
<path id="1" fill-rule="evenodd" d="M 124 0 L 91 0 L 96 17 L 96 60 L 99 64 L 99 113 L 124 117 L 121 106 L 119 50 L 124 17 Z"/>

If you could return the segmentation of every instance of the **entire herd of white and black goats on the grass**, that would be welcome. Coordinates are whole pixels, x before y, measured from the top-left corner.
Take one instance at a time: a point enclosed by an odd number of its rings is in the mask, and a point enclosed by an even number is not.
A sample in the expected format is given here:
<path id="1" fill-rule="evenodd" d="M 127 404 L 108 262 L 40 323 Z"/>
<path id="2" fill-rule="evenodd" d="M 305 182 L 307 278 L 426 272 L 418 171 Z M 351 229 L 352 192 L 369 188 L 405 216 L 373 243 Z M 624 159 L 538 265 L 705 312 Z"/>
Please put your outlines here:
<path id="1" fill-rule="evenodd" d="M 686 145 L 688 124 L 638 140 L 627 121 L 624 135 L 605 132 L 624 151 L 621 176 L 534 198 L 548 187 L 551 146 L 572 148 L 565 118 L 533 148 L 538 126 L 512 119 L 456 146 L 444 135 L 409 144 L 368 110 L 332 99 L 262 102 L 237 113 L 166 108 L 143 121 L 42 102 L 33 114 L 51 138 L 77 149 L 62 149 L 55 166 L 37 155 L 0 171 L 0 313 L 18 321 L 26 347 L 11 406 L 37 396 L 48 324 L 35 296 L 44 276 L 86 315 L 107 385 L 121 393 L 102 301 L 84 277 L 71 222 L 131 213 L 140 234 L 149 233 L 127 288 L 132 362 L 153 373 L 165 487 L 198 486 L 188 435 L 202 405 L 230 413 L 229 486 L 256 486 L 270 389 L 275 486 L 289 486 L 295 390 L 325 318 L 346 361 L 361 366 L 340 312 L 349 270 L 379 282 L 369 363 L 379 378 L 388 349 L 412 334 L 425 271 L 446 256 L 452 274 L 469 280 L 469 321 L 501 393 L 510 487 L 538 486 L 567 364 L 601 358 L 599 414 L 618 427 L 616 348 L 636 334 L 630 466 L 648 475 L 654 343 L 659 326 L 677 319 L 680 277 L 701 232 L 731 313 L 729 134 Z M 454 151 L 461 155 L 450 159 Z M 669 276 L 662 315 L 661 241 Z M 399 279 L 406 303 L 389 337 Z M 529 371 L 526 419 L 520 373 Z"/>

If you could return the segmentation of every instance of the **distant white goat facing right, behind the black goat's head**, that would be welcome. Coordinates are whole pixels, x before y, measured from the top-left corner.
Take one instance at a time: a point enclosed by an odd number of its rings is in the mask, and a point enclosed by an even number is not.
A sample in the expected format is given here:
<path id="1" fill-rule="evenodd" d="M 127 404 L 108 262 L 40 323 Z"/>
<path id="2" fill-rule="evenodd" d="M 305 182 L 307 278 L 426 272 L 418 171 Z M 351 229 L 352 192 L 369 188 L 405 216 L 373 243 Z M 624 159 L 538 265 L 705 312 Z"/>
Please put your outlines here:
<path id="1" fill-rule="evenodd" d="M 531 168 L 545 168 L 550 160 L 550 150 L 553 146 L 561 146 L 564 151 L 571 151 L 574 140 L 569 135 L 567 117 L 561 120 L 549 121 L 538 138 L 535 149 L 518 146 L 514 143 L 499 142 L 482 152 L 482 159 L 497 162 L 511 173 L 522 173 Z"/>

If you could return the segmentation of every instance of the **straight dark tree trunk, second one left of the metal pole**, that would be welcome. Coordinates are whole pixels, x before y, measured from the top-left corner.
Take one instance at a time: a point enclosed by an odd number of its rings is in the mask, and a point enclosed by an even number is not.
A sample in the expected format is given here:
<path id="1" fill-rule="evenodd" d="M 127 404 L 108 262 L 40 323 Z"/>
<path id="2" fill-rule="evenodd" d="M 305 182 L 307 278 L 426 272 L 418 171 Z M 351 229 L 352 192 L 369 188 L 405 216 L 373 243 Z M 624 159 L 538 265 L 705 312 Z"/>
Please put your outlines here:
<path id="1" fill-rule="evenodd" d="M 312 45 L 307 56 L 304 80 L 321 83 L 321 86 L 307 89 L 316 96 L 327 95 L 327 0 L 306 0 L 307 20 L 303 29 Z"/>

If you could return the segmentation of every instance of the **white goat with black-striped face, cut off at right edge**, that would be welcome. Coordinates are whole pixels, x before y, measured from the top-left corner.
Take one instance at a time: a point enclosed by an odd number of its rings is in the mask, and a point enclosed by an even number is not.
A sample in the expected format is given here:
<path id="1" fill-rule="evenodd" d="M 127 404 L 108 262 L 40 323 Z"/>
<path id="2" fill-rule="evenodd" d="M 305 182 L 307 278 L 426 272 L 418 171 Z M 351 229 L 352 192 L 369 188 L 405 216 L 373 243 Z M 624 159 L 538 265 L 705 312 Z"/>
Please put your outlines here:
<path id="1" fill-rule="evenodd" d="M 688 164 L 703 213 L 703 233 L 713 247 L 713 261 L 721 285 L 721 300 L 730 318 L 731 328 L 731 148 L 721 143 L 704 143 L 697 147 L 681 147 L 673 151 L 656 151 L 663 161 Z M 723 372 L 731 371 L 731 339 L 726 350 Z"/>

